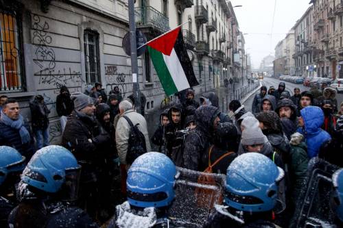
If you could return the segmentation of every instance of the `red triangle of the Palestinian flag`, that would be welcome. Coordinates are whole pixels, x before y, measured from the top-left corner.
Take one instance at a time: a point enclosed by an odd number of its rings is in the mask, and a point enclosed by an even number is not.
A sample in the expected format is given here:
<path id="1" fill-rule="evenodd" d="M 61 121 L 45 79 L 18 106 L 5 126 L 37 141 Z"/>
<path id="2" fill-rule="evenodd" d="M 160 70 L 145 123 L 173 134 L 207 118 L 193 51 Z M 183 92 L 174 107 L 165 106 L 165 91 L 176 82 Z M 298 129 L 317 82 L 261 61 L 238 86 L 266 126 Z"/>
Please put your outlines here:
<path id="1" fill-rule="evenodd" d="M 170 55 L 171 51 L 174 48 L 176 39 L 178 38 L 179 31 L 180 27 L 168 31 L 166 34 L 157 38 L 156 40 L 148 42 L 147 46 L 152 47 L 153 49 L 156 49 L 157 51 L 160 51 L 165 55 Z"/>

